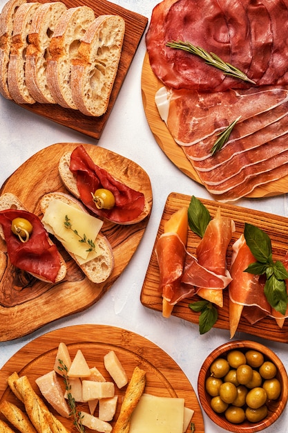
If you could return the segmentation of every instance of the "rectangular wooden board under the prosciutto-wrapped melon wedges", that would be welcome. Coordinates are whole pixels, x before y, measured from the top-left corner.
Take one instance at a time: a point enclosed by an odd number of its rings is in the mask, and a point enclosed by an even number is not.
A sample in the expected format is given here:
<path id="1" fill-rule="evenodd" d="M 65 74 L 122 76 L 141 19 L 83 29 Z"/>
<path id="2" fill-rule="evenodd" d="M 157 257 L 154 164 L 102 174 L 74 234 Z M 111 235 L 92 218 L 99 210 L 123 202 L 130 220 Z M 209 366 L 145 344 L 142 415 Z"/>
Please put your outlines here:
<path id="1" fill-rule="evenodd" d="M 236 224 L 236 232 L 233 233 L 231 242 L 227 250 L 227 268 L 229 269 L 231 263 L 231 247 L 233 243 L 240 237 L 244 230 L 244 223 L 250 223 L 256 225 L 258 228 L 266 232 L 272 243 L 273 260 L 284 259 L 287 249 L 288 249 L 288 232 L 287 225 L 288 219 L 284 216 L 277 216 L 265 212 L 258 212 L 256 210 L 250 210 L 247 208 L 241 208 L 240 206 L 234 206 L 229 204 L 217 203 L 215 201 L 209 201 L 205 199 L 200 199 L 202 203 L 209 210 L 211 217 L 215 215 L 218 208 L 221 208 L 221 214 L 223 216 L 231 217 Z M 167 221 L 171 214 L 176 210 L 182 208 L 182 206 L 189 207 L 191 201 L 191 196 L 186 196 L 184 194 L 178 194 L 172 192 L 169 194 L 166 204 L 164 206 L 164 211 L 162 214 L 162 219 L 160 221 L 160 226 L 157 231 L 157 236 L 155 239 L 155 244 L 153 246 L 153 252 L 151 254 L 151 259 L 148 264 L 146 276 L 144 279 L 144 284 L 141 291 L 141 302 L 144 306 L 152 308 L 156 311 L 162 312 L 162 294 L 158 291 L 159 284 L 159 267 L 157 264 L 157 258 L 155 255 L 155 245 L 157 239 L 164 231 L 164 222 Z M 195 255 L 196 248 L 200 243 L 200 237 L 193 233 L 189 229 L 187 249 L 192 255 Z M 224 306 L 218 308 L 218 321 L 215 323 L 215 328 L 227 329 L 229 330 L 229 308 L 228 308 L 228 291 L 227 288 L 224 289 Z M 176 304 L 173 308 L 172 314 L 187 320 L 191 323 L 198 324 L 199 313 L 194 313 L 189 304 L 201 298 L 195 295 L 194 297 L 186 298 Z M 169 320 L 166 319 L 166 320 Z M 238 331 L 243 331 L 251 335 L 257 335 L 261 338 L 267 338 L 267 340 L 278 341 L 282 343 L 288 342 L 288 320 L 285 320 L 282 329 L 279 328 L 276 321 L 271 317 L 265 317 L 265 319 L 260 320 L 256 324 L 249 324 L 244 318 L 240 319 L 238 325 Z M 230 335 L 228 333 L 228 335 Z"/>

